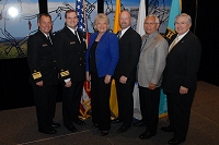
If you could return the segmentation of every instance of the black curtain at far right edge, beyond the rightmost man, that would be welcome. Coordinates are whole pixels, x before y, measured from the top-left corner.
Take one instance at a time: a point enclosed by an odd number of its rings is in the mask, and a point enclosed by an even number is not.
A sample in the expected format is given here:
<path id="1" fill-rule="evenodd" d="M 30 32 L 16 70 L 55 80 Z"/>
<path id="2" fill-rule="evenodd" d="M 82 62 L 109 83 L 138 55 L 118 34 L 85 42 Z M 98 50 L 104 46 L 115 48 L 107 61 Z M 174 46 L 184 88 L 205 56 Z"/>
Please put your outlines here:
<path id="1" fill-rule="evenodd" d="M 195 33 L 201 41 L 199 80 L 219 86 L 219 2 L 198 0 Z"/>

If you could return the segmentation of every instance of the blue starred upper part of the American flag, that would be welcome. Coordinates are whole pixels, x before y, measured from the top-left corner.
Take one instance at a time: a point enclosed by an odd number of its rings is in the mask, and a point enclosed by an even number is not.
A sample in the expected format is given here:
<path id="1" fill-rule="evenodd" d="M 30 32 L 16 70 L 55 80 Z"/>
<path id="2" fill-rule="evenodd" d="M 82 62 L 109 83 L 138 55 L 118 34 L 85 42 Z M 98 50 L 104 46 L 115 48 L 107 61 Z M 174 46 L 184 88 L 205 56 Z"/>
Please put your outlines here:
<path id="1" fill-rule="evenodd" d="M 78 19 L 79 19 L 78 29 L 82 31 L 83 36 L 85 36 L 85 23 L 84 23 L 84 12 L 83 12 L 83 10 L 85 10 L 83 8 L 83 0 L 77 0 L 76 11 L 78 13 Z"/>

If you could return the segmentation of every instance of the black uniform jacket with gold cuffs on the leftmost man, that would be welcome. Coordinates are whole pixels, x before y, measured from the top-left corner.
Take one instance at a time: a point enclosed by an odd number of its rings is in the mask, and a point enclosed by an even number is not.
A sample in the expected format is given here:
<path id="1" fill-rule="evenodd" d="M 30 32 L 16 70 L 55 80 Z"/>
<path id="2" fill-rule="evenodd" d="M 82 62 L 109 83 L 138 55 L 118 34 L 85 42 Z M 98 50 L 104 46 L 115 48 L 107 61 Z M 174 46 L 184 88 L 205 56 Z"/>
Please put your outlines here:
<path id="1" fill-rule="evenodd" d="M 53 35 L 49 35 L 51 41 Z M 31 70 L 30 82 L 43 81 L 44 85 L 58 84 L 58 71 L 54 56 L 54 48 L 46 36 L 38 31 L 27 40 L 27 61 Z"/>

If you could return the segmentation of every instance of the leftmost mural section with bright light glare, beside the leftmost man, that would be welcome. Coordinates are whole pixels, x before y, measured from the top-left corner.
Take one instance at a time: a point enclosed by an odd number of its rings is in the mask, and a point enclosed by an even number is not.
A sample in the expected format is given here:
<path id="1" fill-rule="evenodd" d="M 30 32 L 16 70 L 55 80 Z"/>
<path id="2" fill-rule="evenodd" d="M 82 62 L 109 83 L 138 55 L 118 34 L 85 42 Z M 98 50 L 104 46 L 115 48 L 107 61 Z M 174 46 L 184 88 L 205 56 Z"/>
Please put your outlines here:
<path id="1" fill-rule="evenodd" d="M 0 0 L 0 59 L 26 57 L 26 39 L 37 29 L 37 13 L 36 0 Z"/>

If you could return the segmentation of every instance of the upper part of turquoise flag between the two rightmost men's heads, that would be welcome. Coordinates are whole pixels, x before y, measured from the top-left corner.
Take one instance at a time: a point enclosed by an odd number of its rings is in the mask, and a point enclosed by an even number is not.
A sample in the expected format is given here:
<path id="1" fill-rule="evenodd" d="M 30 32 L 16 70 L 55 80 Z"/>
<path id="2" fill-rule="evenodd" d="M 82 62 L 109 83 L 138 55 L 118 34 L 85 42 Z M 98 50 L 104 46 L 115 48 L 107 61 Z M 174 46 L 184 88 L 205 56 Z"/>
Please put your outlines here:
<path id="1" fill-rule="evenodd" d="M 171 37 L 175 34 L 175 26 L 174 26 L 175 16 L 181 13 L 181 10 L 182 10 L 181 0 L 172 0 L 170 13 L 169 13 L 168 27 L 165 32 L 165 37 L 168 39 L 171 39 Z"/>

